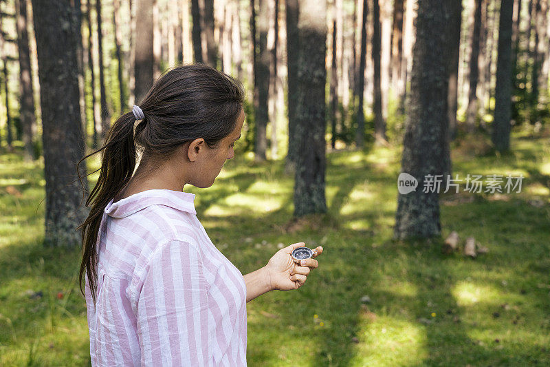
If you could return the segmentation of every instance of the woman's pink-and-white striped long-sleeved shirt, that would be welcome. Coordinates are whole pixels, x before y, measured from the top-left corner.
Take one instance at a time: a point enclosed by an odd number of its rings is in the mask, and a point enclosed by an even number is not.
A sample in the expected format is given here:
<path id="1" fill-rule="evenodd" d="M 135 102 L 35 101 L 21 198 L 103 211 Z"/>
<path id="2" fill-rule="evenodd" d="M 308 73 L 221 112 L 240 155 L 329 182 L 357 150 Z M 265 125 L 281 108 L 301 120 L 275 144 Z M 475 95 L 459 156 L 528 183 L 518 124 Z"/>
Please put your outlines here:
<path id="1" fill-rule="evenodd" d="M 135 193 L 104 209 L 92 366 L 246 366 L 246 284 L 197 219 L 195 194 Z"/>

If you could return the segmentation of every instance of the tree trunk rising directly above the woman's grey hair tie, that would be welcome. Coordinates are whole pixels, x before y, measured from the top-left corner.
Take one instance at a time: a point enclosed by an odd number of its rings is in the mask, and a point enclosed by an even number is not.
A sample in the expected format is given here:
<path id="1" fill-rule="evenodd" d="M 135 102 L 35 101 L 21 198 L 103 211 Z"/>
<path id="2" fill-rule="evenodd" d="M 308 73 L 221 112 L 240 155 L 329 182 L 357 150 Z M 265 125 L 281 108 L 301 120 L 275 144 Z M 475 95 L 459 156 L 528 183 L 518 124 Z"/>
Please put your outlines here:
<path id="1" fill-rule="evenodd" d="M 135 101 L 141 103 L 153 86 L 153 0 L 137 0 L 135 34 Z"/>

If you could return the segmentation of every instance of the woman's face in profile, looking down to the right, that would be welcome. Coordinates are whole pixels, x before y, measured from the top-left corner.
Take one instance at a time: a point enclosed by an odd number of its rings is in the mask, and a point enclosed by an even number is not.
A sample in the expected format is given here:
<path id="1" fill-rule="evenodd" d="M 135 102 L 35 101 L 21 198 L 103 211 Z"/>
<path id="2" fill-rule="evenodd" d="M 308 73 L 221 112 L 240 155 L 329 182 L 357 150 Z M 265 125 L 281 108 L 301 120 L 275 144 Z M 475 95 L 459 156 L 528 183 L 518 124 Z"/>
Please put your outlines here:
<path id="1" fill-rule="evenodd" d="M 237 118 L 235 128 L 225 138 L 218 142 L 217 147 L 210 149 L 206 147 L 203 155 L 203 159 L 197 161 L 199 164 L 199 171 L 197 172 L 197 180 L 195 182 L 189 182 L 196 187 L 210 187 L 214 184 L 214 180 L 219 175 L 225 160 L 234 157 L 233 146 L 236 140 L 241 137 L 241 129 L 245 120 L 245 112 L 241 109 L 241 114 Z"/>

